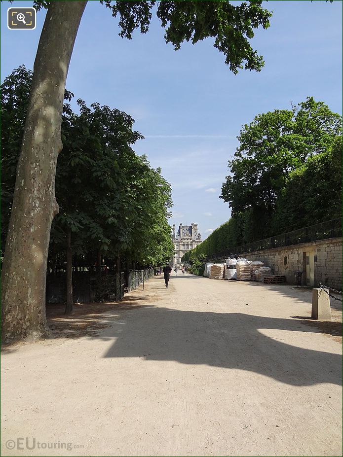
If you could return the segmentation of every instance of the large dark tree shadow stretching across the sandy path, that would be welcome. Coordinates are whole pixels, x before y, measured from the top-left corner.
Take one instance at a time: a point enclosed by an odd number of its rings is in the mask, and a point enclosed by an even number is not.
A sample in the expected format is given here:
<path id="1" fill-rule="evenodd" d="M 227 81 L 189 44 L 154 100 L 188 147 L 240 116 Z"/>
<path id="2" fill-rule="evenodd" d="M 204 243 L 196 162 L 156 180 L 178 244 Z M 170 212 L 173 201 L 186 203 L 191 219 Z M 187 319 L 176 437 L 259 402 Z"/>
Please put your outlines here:
<path id="1" fill-rule="evenodd" d="M 305 332 L 304 338 L 299 341 L 298 333 L 290 335 L 289 331 Z M 316 331 L 295 319 L 143 305 L 114 321 L 102 338 L 116 338 L 105 357 L 248 370 L 293 386 L 341 385 L 340 354 L 304 349 L 313 341 L 306 333 Z"/>

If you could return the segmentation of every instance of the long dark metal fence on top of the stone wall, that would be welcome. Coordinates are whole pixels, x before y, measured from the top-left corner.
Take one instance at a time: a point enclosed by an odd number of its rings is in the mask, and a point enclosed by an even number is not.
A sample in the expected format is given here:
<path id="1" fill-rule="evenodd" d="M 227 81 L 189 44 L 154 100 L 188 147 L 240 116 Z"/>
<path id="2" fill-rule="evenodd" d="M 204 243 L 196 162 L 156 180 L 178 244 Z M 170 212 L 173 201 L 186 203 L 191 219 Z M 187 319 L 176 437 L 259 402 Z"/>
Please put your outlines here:
<path id="1" fill-rule="evenodd" d="M 275 247 L 300 245 L 311 241 L 326 240 L 328 238 L 342 237 L 342 219 L 332 219 L 320 224 L 310 225 L 292 232 L 276 235 L 265 240 L 255 241 L 241 246 L 225 249 L 209 255 L 207 260 L 217 260 L 229 257 L 232 254 L 241 254 L 243 252 L 255 252 Z"/>

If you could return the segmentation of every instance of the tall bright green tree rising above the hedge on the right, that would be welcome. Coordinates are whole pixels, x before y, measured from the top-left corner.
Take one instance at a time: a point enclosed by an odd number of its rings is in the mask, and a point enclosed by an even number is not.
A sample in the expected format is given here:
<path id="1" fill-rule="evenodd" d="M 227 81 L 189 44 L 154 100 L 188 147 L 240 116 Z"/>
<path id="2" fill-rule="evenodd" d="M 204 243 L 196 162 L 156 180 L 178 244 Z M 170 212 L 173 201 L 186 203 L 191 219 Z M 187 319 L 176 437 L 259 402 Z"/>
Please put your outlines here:
<path id="1" fill-rule="evenodd" d="M 232 217 L 245 214 L 242 241 L 272 235 L 272 215 L 287 176 L 310 157 L 332 148 L 342 133 L 341 123 L 339 114 L 307 97 L 290 110 L 259 114 L 243 126 L 221 195 Z"/>

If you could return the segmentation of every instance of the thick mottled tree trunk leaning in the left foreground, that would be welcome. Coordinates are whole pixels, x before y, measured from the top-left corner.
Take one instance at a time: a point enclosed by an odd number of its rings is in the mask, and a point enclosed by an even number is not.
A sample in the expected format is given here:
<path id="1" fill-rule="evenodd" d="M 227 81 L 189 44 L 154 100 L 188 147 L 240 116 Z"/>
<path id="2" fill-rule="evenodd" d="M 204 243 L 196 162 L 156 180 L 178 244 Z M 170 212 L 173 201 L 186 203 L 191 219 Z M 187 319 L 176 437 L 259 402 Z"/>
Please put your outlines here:
<path id="1" fill-rule="evenodd" d="M 51 1 L 34 65 L 2 268 L 3 341 L 48 334 L 45 281 L 65 83 L 86 1 Z"/>

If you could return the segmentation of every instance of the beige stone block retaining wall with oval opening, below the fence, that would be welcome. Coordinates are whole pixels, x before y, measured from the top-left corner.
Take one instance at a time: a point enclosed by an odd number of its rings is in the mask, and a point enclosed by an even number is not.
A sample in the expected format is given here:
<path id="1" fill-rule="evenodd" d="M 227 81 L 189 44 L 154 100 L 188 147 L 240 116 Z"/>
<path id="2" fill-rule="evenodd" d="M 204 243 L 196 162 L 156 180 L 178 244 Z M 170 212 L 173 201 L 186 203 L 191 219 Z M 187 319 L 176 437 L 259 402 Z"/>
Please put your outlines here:
<path id="1" fill-rule="evenodd" d="M 342 238 L 330 238 L 301 245 L 241 253 L 248 260 L 261 260 L 274 275 L 286 277 L 295 284 L 294 270 L 302 270 L 302 284 L 306 285 L 306 255 L 314 251 L 314 286 L 323 282 L 329 287 L 342 290 Z"/>

